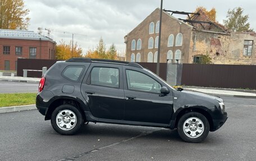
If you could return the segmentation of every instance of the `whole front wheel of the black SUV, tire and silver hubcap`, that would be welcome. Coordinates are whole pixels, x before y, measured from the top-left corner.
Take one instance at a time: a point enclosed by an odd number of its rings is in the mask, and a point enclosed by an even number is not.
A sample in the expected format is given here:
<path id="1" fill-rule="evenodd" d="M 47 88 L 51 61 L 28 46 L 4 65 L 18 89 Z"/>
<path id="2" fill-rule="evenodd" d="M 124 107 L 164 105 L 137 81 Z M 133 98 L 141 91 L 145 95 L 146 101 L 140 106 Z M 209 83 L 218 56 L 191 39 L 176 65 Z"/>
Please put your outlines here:
<path id="1" fill-rule="evenodd" d="M 186 142 L 201 142 L 209 134 L 208 119 L 201 113 L 189 112 L 184 114 L 177 125 L 178 133 Z"/>

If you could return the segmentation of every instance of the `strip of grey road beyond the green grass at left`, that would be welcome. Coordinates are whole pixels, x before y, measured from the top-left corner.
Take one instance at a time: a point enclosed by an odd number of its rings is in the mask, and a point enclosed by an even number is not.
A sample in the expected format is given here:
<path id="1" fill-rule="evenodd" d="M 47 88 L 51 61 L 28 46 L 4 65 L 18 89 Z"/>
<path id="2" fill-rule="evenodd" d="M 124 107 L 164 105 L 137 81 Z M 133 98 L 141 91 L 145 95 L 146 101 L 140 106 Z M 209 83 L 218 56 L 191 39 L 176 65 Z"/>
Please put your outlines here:
<path id="1" fill-rule="evenodd" d="M 0 81 L 0 93 L 36 93 L 38 83 Z"/>

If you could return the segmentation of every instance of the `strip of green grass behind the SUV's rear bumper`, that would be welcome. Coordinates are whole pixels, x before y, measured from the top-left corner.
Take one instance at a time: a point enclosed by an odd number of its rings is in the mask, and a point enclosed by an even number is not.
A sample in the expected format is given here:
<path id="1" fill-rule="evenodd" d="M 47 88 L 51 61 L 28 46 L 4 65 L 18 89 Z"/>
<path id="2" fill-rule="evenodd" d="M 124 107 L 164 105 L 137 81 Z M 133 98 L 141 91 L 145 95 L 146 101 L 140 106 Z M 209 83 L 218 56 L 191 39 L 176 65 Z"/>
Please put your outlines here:
<path id="1" fill-rule="evenodd" d="M 0 108 L 13 105 L 35 104 L 36 93 L 0 94 Z"/>

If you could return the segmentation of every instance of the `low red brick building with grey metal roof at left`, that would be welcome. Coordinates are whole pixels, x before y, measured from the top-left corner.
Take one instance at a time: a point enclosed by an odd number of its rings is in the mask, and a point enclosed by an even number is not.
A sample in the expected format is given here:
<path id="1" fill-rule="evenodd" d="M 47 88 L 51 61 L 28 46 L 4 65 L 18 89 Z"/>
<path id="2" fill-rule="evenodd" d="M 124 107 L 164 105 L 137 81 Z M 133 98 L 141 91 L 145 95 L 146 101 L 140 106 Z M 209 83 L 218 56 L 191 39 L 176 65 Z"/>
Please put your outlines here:
<path id="1" fill-rule="evenodd" d="M 17 58 L 54 59 L 56 42 L 34 31 L 0 29 L 0 70 L 17 70 Z"/>

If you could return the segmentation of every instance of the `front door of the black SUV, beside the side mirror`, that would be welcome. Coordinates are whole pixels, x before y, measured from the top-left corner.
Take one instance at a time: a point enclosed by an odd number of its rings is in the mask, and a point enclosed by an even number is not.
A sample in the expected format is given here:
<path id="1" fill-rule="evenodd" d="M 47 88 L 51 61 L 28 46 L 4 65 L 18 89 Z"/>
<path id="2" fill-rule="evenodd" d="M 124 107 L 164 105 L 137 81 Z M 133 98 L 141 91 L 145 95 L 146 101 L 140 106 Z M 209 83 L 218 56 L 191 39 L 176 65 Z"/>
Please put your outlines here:
<path id="1" fill-rule="evenodd" d="M 163 84 L 145 70 L 123 67 L 126 121 L 164 123 L 171 120 L 173 98 L 161 96 Z"/>

